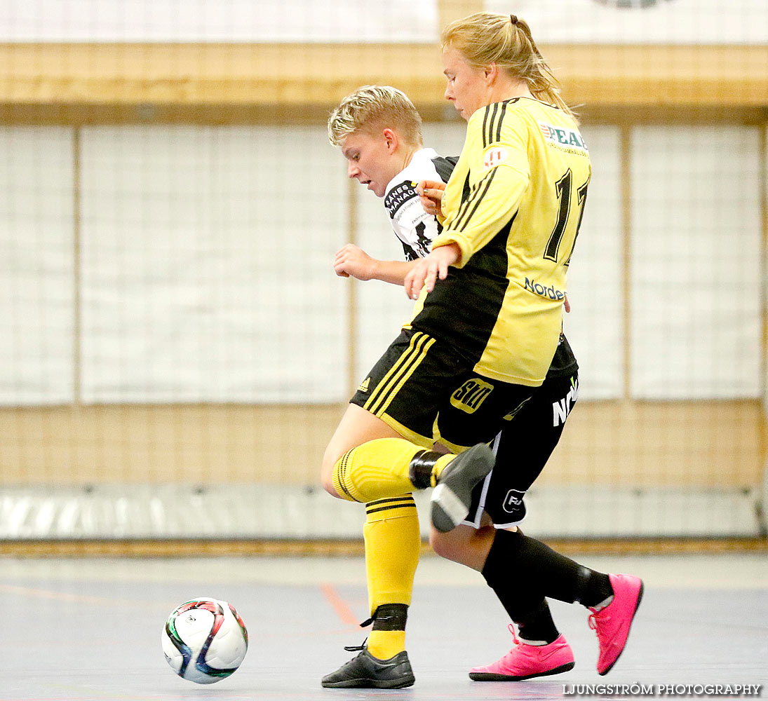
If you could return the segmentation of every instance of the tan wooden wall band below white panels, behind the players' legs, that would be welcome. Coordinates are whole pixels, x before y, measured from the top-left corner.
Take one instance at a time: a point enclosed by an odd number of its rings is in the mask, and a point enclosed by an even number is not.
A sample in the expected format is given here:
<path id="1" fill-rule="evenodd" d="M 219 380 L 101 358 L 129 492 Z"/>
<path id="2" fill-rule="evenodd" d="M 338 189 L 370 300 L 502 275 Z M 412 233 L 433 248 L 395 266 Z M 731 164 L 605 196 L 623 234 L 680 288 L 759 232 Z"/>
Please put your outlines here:
<path id="1" fill-rule="evenodd" d="M 0 410 L 0 484 L 316 484 L 345 405 Z M 537 484 L 751 486 L 760 402 L 579 402 Z"/>

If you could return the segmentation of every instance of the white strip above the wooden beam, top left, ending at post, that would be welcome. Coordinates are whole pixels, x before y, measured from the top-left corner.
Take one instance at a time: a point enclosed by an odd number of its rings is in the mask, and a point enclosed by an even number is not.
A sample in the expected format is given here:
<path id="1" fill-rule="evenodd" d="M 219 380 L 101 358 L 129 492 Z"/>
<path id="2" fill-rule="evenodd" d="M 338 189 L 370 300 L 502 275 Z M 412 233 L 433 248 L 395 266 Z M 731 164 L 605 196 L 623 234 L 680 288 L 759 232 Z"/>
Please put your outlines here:
<path id="1" fill-rule="evenodd" d="M 435 42 L 437 0 L 4 0 L 0 41 Z"/>

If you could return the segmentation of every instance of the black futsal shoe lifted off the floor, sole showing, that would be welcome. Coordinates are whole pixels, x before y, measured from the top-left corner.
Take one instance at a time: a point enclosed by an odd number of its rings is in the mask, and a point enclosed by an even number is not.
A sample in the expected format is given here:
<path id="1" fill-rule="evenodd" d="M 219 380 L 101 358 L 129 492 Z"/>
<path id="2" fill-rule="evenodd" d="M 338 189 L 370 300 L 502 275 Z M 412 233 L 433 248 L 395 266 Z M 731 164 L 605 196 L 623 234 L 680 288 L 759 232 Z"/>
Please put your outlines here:
<path id="1" fill-rule="evenodd" d="M 464 521 L 472 490 L 492 471 L 495 461 L 491 448 L 478 443 L 459 453 L 440 473 L 432 490 L 432 525 L 438 531 L 447 533 Z"/>

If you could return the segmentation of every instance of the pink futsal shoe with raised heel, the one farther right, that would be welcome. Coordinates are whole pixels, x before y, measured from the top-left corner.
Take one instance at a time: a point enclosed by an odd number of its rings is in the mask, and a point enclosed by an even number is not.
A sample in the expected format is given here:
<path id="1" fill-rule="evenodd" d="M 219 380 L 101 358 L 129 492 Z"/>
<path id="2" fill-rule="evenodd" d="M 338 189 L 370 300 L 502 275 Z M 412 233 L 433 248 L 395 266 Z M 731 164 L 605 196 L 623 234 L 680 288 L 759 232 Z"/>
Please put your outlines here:
<path id="1" fill-rule="evenodd" d="M 598 634 L 598 674 L 607 674 L 624 651 L 634 614 L 643 598 L 643 581 L 631 574 L 609 574 L 614 600 L 604 609 L 591 610 L 589 627 Z"/>

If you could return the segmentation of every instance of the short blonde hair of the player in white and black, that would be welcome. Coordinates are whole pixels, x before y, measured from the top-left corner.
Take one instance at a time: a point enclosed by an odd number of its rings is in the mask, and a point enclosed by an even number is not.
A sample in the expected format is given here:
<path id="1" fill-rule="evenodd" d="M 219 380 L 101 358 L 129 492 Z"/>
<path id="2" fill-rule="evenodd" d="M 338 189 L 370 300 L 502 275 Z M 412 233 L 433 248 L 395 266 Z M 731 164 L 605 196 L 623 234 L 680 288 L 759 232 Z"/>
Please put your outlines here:
<path id="1" fill-rule="evenodd" d="M 349 134 L 374 134 L 387 127 L 409 144 L 422 144 L 422 117 L 408 96 L 390 85 L 363 85 L 346 96 L 328 117 L 328 138 L 341 146 Z"/>

